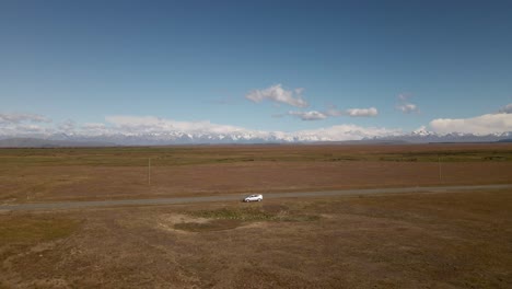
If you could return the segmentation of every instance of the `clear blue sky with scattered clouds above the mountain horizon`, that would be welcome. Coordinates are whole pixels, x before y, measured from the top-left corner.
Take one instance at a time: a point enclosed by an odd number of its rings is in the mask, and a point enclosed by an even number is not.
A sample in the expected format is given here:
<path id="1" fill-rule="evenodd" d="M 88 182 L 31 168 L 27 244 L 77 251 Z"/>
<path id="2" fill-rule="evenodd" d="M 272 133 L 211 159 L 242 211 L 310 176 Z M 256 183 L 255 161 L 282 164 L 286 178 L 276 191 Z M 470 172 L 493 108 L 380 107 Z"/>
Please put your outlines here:
<path id="1" fill-rule="evenodd" d="M 3 0 L 0 128 L 512 131 L 510 15 L 511 1 Z"/>

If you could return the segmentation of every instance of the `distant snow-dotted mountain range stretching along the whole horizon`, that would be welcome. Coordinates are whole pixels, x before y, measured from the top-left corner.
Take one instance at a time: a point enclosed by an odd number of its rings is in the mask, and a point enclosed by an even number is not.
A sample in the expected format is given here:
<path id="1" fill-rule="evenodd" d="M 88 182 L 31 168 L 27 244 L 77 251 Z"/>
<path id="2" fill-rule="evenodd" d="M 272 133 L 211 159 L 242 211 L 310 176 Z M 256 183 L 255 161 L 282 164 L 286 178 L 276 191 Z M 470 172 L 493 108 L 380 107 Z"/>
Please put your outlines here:
<path id="1" fill-rule="evenodd" d="M 356 131 L 357 132 L 357 131 Z M 354 135 L 358 137 L 358 135 Z M 0 148 L 55 148 L 55 147 L 115 147 L 115 146 L 166 146 L 166 144 L 221 144 L 221 143 L 429 143 L 429 142 L 510 142 L 512 131 L 505 134 L 478 136 L 473 134 L 439 135 L 427 130 L 387 137 L 359 136 L 354 140 L 322 138 L 314 135 L 289 135 L 283 132 L 266 134 L 166 134 L 138 135 L 49 135 L 32 137 L 0 137 Z"/>

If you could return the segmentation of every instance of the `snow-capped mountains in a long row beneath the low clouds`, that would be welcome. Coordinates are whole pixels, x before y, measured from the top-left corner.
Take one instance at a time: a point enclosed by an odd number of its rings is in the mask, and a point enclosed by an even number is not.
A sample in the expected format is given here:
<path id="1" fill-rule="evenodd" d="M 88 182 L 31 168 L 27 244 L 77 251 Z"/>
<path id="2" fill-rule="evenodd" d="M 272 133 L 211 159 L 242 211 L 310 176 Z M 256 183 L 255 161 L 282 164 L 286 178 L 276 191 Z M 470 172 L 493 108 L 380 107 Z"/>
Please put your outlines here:
<path id="1" fill-rule="evenodd" d="M 379 132 L 379 131 L 377 131 Z M 165 146 L 165 144 L 221 144 L 221 143 L 317 143 L 317 142 L 494 142 L 512 139 L 512 131 L 478 136 L 473 134 L 452 132 L 439 135 L 424 128 L 409 134 L 397 131 L 380 131 L 382 136 L 371 136 L 358 129 L 326 130 L 295 132 L 266 132 L 266 131 L 234 131 L 212 132 L 194 131 L 184 132 L 172 130 L 167 132 L 147 134 L 53 134 L 31 136 L 2 136 L 0 147 L 66 147 L 66 146 Z M 373 131 L 373 135 L 376 132 Z M 30 138 L 28 138 L 30 137 Z M 40 141 L 45 140 L 45 141 Z M 43 143 L 43 144 L 42 144 Z"/>

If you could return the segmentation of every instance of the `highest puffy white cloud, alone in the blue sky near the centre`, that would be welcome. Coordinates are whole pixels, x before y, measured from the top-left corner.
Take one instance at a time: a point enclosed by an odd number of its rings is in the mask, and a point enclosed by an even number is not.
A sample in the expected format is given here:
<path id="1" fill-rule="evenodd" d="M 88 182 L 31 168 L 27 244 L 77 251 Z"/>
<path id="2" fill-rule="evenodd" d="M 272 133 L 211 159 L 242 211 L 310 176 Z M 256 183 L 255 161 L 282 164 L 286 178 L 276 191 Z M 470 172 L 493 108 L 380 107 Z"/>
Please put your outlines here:
<path id="1" fill-rule="evenodd" d="M 307 107 L 307 102 L 302 97 L 303 91 L 303 89 L 284 90 L 281 84 L 276 84 L 264 90 L 253 90 L 245 95 L 245 99 L 255 103 L 270 100 L 296 107 Z"/>

